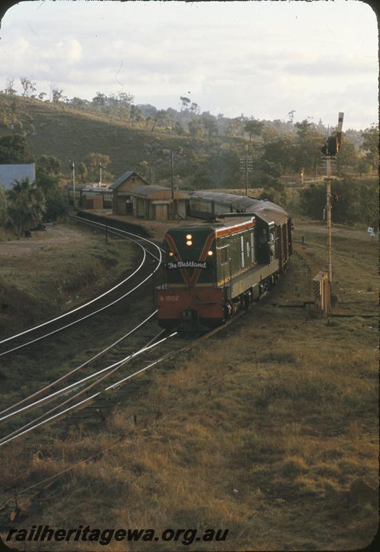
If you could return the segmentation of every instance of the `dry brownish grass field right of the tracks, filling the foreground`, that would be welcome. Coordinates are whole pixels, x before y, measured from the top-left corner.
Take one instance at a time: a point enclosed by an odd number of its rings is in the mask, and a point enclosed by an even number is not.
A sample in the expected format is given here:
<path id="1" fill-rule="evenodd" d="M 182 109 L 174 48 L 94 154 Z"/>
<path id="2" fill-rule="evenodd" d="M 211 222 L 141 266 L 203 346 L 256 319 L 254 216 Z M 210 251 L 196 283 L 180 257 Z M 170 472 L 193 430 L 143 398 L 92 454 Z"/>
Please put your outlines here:
<path id="1" fill-rule="evenodd" d="M 106 451 L 35 497 L 23 526 L 229 529 L 226 542 L 194 542 L 197 551 L 347 550 L 372 540 L 378 338 L 376 318 L 359 315 L 377 307 L 377 246 L 365 230 L 334 228 L 335 312 L 357 316 L 327 321 L 285 308 L 310 299 L 307 264 L 315 274 L 325 262 L 325 227 L 295 222 L 296 255 L 263 302 L 191 355 L 142 375 L 106 417 L 10 446 L 2 477 L 15 492 Z"/>

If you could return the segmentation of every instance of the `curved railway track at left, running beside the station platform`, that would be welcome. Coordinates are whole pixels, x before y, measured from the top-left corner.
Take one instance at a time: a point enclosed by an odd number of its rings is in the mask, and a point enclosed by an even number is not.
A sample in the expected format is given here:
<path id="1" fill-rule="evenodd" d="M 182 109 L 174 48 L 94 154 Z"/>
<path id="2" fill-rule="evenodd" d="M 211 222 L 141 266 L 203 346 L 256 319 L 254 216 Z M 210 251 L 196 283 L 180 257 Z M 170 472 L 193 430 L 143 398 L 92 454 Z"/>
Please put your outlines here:
<path id="1" fill-rule="evenodd" d="M 82 217 L 73 217 L 73 219 L 101 230 L 106 229 L 105 224 L 88 221 Z M 157 244 L 145 237 L 121 230 L 120 228 L 114 228 L 113 226 L 107 226 L 107 231 L 113 235 L 129 239 L 142 250 L 142 259 L 137 268 L 133 270 L 133 273 L 98 297 L 73 308 L 71 311 L 2 339 L 0 341 L 0 358 L 26 347 L 28 347 L 28 351 L 31 351 L 32 346 L 39 344 L 42 339 L 56 335 L 75 324 L 103 313 L 106 309 L 131 295 L 131 293 L 139 290 L 149 279 L 154 277 L 162 263 L 162 250 Z M 148 266 L 148 269 L 146 269 L 148 259 L 153 259 L 153 266 Z M 93 306 L 95 303 L 97 303 L 98 308 L 94 310 Z"/>

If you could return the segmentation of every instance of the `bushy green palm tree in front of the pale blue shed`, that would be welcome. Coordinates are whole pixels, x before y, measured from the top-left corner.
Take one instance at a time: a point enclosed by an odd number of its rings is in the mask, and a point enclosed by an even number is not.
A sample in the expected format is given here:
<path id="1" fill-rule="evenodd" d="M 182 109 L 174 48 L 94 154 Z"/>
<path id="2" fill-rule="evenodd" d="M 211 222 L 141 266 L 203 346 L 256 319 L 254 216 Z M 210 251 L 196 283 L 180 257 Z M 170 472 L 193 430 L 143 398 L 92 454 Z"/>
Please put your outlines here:
<path id="1" fill-rule="evenodd" d="M 45 196 L 34 182 L 30 184 L 28 177 L 14 180 L 15 184 L 8 190 L 8 214 L 17 232 L 26 235 L 44 217 Z"/>

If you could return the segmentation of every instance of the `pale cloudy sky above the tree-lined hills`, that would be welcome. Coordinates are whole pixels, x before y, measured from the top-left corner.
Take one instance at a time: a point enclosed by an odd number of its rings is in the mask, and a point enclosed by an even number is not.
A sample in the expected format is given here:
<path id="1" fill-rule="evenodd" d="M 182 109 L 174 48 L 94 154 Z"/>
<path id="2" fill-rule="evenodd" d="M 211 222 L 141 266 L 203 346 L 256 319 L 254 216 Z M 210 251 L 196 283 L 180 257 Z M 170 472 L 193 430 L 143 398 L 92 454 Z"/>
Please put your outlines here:
<path id="1" fill-rule="evenodd" d="M 20 2 L 0 28 L 0 89 L 20 77 L 68 98 L 344 128 L 378 121 L 378 30 L 359 0 Z"/>

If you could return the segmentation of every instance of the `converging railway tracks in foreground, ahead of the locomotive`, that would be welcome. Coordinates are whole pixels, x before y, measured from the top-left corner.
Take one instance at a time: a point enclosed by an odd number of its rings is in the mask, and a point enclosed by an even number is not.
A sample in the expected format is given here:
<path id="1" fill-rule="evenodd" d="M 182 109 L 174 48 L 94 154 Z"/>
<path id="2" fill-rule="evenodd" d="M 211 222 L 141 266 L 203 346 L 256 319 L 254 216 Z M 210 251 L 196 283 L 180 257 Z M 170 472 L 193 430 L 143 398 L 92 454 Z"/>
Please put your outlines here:
<path id="1" fill-rule="evenodd" d="M 154 314 L 155 312 L 152 313 L 148 319 L 151 319 Z M 97 353 L 95 357 L 92 357 L 91 359 L 88 359 L 88 361 L 86 361 L 84 364 L 77 366 L 75 370 L 64 375 L 63 377 L 60 377 L 58 380 L 55 380 L 55 382 L 48 384 L 47 386 L 37 391 L 36 393 L 33 393 L 29 397 L 26 397 L 25 399 L 13 404 L 12 406 L 8 406 L 6 409 L 1 411 L 0 427 L 6 427 L 7 422 L 11 422 L 12 426 L 13 420 L 19 417 L 21 417 L 22 420 L 23 416 L 30 411 L 37 411 L 37 416 L 32 417 L 32 419 L 26 423 L 23 423 L 25 422 L 25 419 L 23 419 L 21 425 L 19 422 L 17 426 L 15 424 L 15 427 L 13 427 L 9 431 L 9 433 L 3 433 L 3 436 L 0 437 L 0 451 L 3 446 L 9 444 L 14 440 L 17 440 L 17 438 L 22 437 L 23 435 L 27 435 L 31 431 L 35 431 L 41 426 L 44 426 L 45 424 L 48 424 L 50 422 L 54 422 L 61 417 L 71 415 L 72 419 L 75 420 L 84 420 L 84 418 L 86 417 L 91 417 L 91 410 L 88 411 L 88 413 L 90 413 L 89 415 L 80 415 L 79 417 L 77 416 L 77 412 L 81 411 L 82 408 L 86 406 L 93 406 L 96 411 L 102 411 L 104 410 L 104 408 L 111 408 L 108 403 L 104 404 L 104 399 L 108 400 L 108 397 L 110 397 L 112 393 L 114 393 L 116 390 L 119 390 L 124 384 L 133 380 L 133 378 L 144 373 L 145 371 L 149 370 L 149 368 L 153 368 L 153 366 L 157 366 L 164 360 L 169 359 L 169 357 L 173 357 L 175 355 L 178 355 L 179 353 L 187 351 L 189 350 L 189 348 L 192 348 L 203 339 L 207 339 L 218 331 L 223 330 L 226 326 L 234 322 L 234 320 L 241 315 L 243 315 L 243 312 L 238 313 L 238 315 L 236 315 L 234 319 L 229 320 L 229 322 L 227 322 L 227 324 L 225 324 L 224 326 L 220 326 L 219 328 L 215 328 L 214 330 L 209 331 L 208 333 L 203 334 L 200 337 L 196 337 L 196 339 L 192 339 L 191 342 L 189 342 L 189 339 L 187 339 L 187 337 L 179 337 L 177 332 L 167 333 L 165 331 L 161 331 L 160 333 L 158 333 L 158 335 L 155 335 L 153 339 L 150 339 L 149 342 L 144 344 L 144 346 L 137 348 L 137 351 L 134 352 L 131 351 L 131 348 L 128 346 L 128 344 L 126 344 L 126 346 L 120 346 L 122 340 L 131 335 L 132 331 L 129 332 L 122 339 L 118 339 L 117 342 L 104 349 L 104 351 L 100 351 L 99 353 Z M 136 326 L 133 331 L 136 331 L 138 328 L 142 327 L 143 324 L 148 322 L 148 319 L 144 320 L 142 324 Z M 176 336 L 176 346 L 175 348 L 172 348 L 171 338 L 173 338 L 174 336 Z M 168 348 L 169 342 L 170 346 Z M 156 356 L 155 359 L 150 359 L 149 362 L 147 362 L 146 357 L 144 357 L 145 353 L 153 351 L 153 349 L 155 349 L 156 347 L 160 347 L 160 355 Z M 71 375 L 73 375 L 73 373 L 79 371 L 79 369 L 83 368 L 84 366 L 93 366 L 95 361 L 99 361 L 99 359 L 101 357 L 104 357 L 104 355 L 106 354 L 111 355 L 108 356 L 108 362 L 112 361 L 111 364 L 108 364 L 107 366 L 104 366 L 102 368 L 99 368 L 98 366 L 99 369 L 97 369 L 95 372 L 88 373 L 88 375 L 86 375 L 85 377 L 82 377 L 80 380 L 77 380 L 76 382 L 62 387 L 58 391 L 48 393 L 49 391 L 52 391 L 53 388 L 57 386 L 57 384 L 68 379 Z M 128 371 L 128 373 L 124 372 L 124 374 L 122 375 L 119 371 L 126 364 L 132 364 L 131 369 Z M 117 377 L 115 377 L 117 372 L 119 372 L 122 377 L 120 377 L 119 374 L 117 375 Z M 114 376 L 113 380 L 110 379 L 111 376 Z M 100 384 L 101 388 L 93 392 L 93 389 Z M 92 394 L 88 396 L 88 393 L 90 391 Z M 59 399 L 59 397 L 65 397 L 66 395 L 70 396 L 64 399 L 63 402 L 57 402 L 57 399 Z M 86 397 L 79 400 L 79 397 L 82 397 L 83 395 L 86 395 Z M 120 397 L 122 397 L 122 394 L 118 395 L 118 400 L 120 400 Z M 53 407 L 44 410 L 45 406 L 48 405 L 50 402 L 55 402 Z M 75 414 L 74 418 L 73 414 Z"/>

